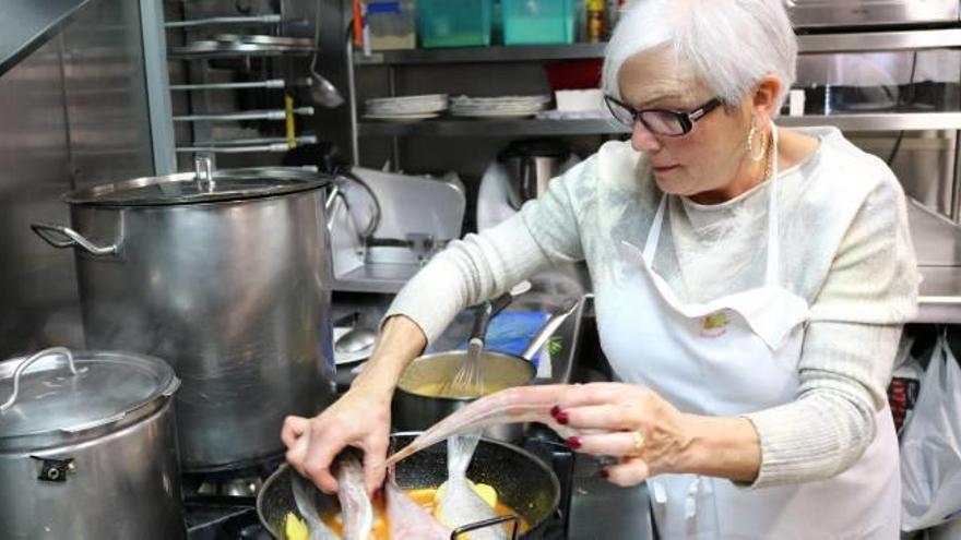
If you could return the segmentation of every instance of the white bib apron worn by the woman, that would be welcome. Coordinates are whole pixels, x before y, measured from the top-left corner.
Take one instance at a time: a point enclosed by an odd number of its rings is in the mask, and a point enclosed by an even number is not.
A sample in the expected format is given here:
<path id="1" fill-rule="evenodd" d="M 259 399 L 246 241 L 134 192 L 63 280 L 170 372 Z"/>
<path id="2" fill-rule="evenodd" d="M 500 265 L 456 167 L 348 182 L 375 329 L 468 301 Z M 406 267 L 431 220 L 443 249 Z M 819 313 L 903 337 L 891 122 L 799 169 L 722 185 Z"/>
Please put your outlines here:
<path id="1" fill-rule="evenodd" d="M 774 147 L 778 133 L 774 131 Z M 776 154 L 772 166 L 778 177 Z M 601 344 L 617 375 L 650 387 L 684 412 L 738 416 L 796 398 L 809 311 L 780 284 L 776 181 L 768 200 L 768 262 L 757 288 L 681 303 L 653 271 L 663 196 L 644 249 L 621 245 L 621 277 L 597 291 Z M 665 539 L 897 539 L 901 497 L 891 412 L 845 472 L 823 481 L 748 490 L 728 480 L 661 475 L 648 480 Z"/>

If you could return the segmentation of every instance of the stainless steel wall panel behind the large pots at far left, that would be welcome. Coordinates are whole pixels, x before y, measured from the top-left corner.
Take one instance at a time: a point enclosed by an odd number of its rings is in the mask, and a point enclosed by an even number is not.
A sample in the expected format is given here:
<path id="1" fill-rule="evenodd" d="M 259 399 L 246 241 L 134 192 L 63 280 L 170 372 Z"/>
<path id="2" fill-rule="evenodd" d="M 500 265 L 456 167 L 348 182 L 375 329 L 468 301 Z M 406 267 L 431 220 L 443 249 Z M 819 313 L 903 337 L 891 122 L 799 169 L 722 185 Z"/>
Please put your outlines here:
<path id="1" fill-rule="evenodd" d="M 138 2 L 99 0 L 0 76 L 0 359 L 82 346 L 73 253 L 29 229 L 60 195 L 153 171 Z"/>

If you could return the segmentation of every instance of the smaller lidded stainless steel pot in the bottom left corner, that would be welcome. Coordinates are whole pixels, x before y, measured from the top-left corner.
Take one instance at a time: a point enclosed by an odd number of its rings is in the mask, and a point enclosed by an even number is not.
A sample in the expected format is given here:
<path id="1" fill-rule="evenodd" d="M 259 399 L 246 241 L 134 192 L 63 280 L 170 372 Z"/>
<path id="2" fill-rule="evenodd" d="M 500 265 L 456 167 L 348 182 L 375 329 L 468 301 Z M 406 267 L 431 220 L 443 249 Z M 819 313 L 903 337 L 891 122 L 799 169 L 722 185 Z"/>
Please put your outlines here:
<path id="1" fill-rule="evenodd" d="M 0 537 L 182 539 L 174 370 L 62 347 L 0 362 Z"/>

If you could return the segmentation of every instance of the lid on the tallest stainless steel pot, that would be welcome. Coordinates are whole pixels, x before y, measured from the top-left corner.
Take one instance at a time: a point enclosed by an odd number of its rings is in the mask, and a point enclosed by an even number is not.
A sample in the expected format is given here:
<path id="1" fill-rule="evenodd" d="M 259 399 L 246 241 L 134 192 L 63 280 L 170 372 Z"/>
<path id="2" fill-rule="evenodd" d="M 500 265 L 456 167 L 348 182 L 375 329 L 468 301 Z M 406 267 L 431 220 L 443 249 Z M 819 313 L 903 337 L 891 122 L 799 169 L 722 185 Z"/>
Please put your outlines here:
<path id="1" fill-rule="evenodd" d="M 96 206 L 201 204 L 285 195 L 323 188 L 330 181 L 312 167 L 200 169 L 84 188 L 63 200 Z"/>

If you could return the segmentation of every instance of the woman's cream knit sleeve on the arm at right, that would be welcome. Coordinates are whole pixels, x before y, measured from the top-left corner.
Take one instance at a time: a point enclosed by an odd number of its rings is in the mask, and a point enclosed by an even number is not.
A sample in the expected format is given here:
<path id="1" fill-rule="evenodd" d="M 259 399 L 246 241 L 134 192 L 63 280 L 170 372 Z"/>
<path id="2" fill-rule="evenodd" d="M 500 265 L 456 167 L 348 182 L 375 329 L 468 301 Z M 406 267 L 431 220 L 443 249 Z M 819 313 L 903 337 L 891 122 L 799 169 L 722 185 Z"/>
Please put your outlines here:
<path id="1" fill-rule="evenodd" d="M 758 431 L 752 487 L 830 478 L 874 441 L 902 326 L 920 281 L 900 184 L 890 171 L 854 216 L 816 301 L 793 403 L 746 415 Z"/>

